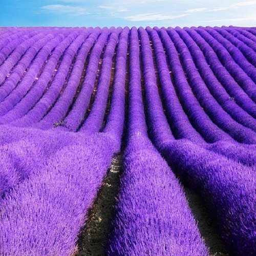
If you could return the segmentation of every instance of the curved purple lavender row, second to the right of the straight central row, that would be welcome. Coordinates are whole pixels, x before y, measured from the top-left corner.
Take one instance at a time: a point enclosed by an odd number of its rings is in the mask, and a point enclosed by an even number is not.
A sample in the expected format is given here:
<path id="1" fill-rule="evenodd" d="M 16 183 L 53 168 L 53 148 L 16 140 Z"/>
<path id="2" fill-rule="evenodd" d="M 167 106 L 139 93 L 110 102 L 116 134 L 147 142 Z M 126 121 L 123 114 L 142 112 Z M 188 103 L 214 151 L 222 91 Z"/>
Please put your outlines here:
<path id="1" fill-rule="evenodd" d="M 225 155 L 228 158 L 234 159 L 236 161 L 242 162 L 249 166 L 255 166 L 255 146 L 245 144 L 234 144 L 227 141 L 218 141 L 212 144 L 206 144 L 202 137 L 196 132 L 194 127 L 190 124 L 187 116 L 179 104 L 177 95 L 175 94 L 174 85 L 170 79 L 167 61 L 164 54 L 163 45 L 158 36 L 158 33 L 153 29 L 147 29 L 148 34 L 151 36 L 154 46 L 154 52 L 156 53 L 157 66 L 159 67 L 159 79 L 160 86 L 163 92 L 163 104 L 166 108 L 166 118 L 170 124 L 172 132 L 177 139 L 188 139 L 195 142 L 196 144 L 203 145 L 206 148 L 209 148 L 212 151 L 215 151 L 219 154 Z M 153 99 L 149 100 L 150 102 Z M 155 106 L 153 107 L 155 109 Z M 150 113 L 149 113 L 150 114 Z M 159 122 L 158 122 L 159 125 Z M 165 125 L 166 127 L 166 125 Z M 160 127 L 158 128 L 160 129 Z M 162 133 L 167 133 L 167 129 L 162 131 Z M 165 137 L 170 137 L 167 133 Z M 156 141 L 155 143 L 160 142 L 161 140 Z M 159 144 L 159 146 L 161 143 Z"/>

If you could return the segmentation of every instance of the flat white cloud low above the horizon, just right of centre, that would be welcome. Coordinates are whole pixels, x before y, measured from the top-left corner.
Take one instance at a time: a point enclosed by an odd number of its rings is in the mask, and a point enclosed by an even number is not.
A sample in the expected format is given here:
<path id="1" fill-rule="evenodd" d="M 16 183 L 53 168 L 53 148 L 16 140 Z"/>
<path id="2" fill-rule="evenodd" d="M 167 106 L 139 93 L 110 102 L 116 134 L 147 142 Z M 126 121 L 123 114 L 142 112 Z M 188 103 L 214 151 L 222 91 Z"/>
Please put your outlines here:
<path id="1" fill-rule="evenodd" d="M 130 20 L 131 22 L 146 22 L 146 21 L 153 21 L 153 20 L 165 20 L 165 19 L 176 19 L 187 16 L 188 14 L 181 14 L 177 16 L 169 16 L 169 15 L 162 15 L 159 12 L 155 13 L 144 13 L 144 14 L 137 14 L 133 16 L 124 17 L 126 20 Z"/>

